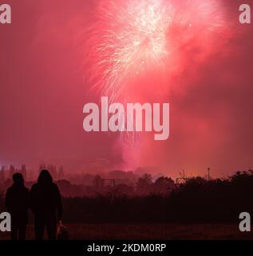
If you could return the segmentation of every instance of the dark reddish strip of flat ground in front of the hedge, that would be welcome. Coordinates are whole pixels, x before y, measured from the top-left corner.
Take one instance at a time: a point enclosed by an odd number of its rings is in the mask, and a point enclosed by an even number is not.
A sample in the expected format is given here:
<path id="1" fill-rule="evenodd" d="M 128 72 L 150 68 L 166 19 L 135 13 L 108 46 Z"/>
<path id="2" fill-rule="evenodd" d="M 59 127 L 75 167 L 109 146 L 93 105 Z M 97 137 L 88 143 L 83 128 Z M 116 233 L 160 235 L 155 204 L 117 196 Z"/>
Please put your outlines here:
<path id="1" fill-rule="evenodd" d="M 237 224 L 69 224 L 70 238 L 78 239 L 253 239 L 253 233 L 241 233 Z M 33 226 L 28 239 L 34 238 Z M 0 233 L 0 239 L 9 234 Z"/>

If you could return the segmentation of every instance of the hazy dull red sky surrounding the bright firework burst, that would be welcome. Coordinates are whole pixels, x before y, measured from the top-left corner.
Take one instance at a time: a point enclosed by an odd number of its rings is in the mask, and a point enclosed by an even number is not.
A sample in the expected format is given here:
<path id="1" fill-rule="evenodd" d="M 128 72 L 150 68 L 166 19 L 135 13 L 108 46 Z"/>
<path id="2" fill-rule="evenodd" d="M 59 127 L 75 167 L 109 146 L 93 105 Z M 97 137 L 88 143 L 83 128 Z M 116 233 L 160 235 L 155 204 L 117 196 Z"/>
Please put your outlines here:
<path id="1" fill-rule="evenodd" d="M 174 38 L 172 46 L 181 48 L 168 67 L 176 71 L 166 73 L 169 89 L 150 89 L 148 80 L 148 89 L 138 90 L 141 100 L 170 103 L 170 138 L 155 142 L 144 135 L 134 156 L 119 144 L 118 134 L 87 134 L 82 128 L 84 104 L 97 101 L 84 64 L 84 30 L 96 1 L 6 2 L 12 24 L 0 25 L 0 164 L 34 168 L 45 162 L 74 171 L 102 158 L 112 168 L 161 166 L 173 177 L 182 169 L 204 175 L 210 166 L 221 176 L 253 167 L 253 34 L 252 25 L 238 22 L 244 2 L 224 1 L 228 35 L 202 42 L 200 26 L 184 38 L 187 46 Z M 198 50 L 204 57 L 196 58 Z"/>

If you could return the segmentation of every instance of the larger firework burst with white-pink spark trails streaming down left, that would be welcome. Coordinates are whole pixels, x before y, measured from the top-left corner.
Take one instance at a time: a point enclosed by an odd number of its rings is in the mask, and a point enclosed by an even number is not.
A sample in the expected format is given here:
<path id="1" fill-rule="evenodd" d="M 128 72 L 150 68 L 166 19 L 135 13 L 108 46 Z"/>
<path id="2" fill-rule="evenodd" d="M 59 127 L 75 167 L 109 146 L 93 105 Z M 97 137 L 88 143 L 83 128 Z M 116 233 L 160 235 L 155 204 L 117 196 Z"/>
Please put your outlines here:
<path id="1" fill-rule="evenodd" d="M 111 100 L 125 84 L 148 68 L 158 68 L 166 50 L 171 21 L 168 5 L 160 0 L 106 1 L 98 7 L 90 45 L 94 87 Z"/>

